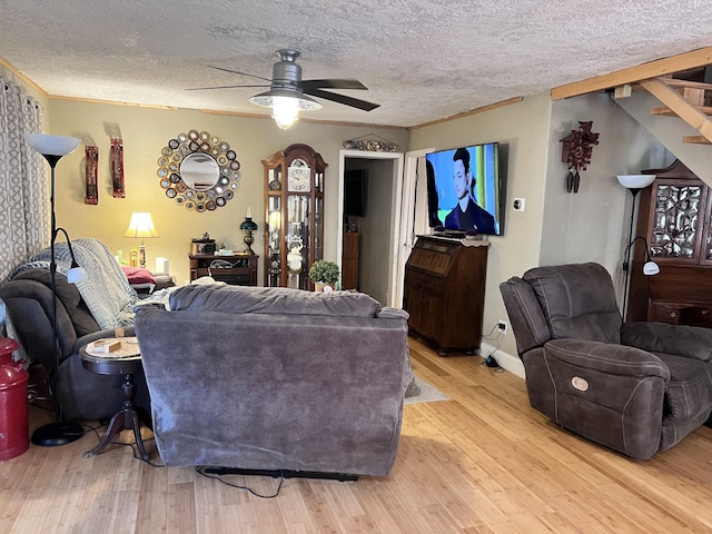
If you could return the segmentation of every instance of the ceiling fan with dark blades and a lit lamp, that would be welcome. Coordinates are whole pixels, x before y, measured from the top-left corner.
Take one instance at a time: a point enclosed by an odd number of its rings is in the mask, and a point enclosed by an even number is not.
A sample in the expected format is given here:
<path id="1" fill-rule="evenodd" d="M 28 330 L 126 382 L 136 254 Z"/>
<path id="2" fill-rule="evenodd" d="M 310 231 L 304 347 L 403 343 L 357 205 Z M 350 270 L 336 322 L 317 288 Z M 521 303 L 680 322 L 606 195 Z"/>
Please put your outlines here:
<path id="1" fill-rule="evenodd" d="M 189 90 L 205 89 L 234 89 L 238 87 L 269 87 L 268 91 L 255 95 L 249 99 L 251 103 L 271 108 L 273 117 L 280 128 L 289 128 L 297 120 L 299 110 L 315 110 L 322 108 L 322 105 L 310 97 L 318 97 L 333 102 L 350 106 L 352 108 L 370 111 L 379 105 L 359 100 L 357 98 L 338 95 L 336 92 L 326 91 L 325 89 L 358 89 L 367 90 L 360 81 L 353 78 L 344 79 L 324 79 L 324 80 L 303 80 L 301 67 L 297 65 L 297 58 L 300 56 L 297 50 L 281 49 L 277 50 L 279 61 L 273 66 L 271 79 L 261 76 L 240 72 L 237 70 L 225 69 L 222 67 L 208 66 L 211 69 L 231 72 L 234 75 L 249 76 L 260 80 L 268 81 L 269 85 L 237 85 L 237 86 L 219 86 L 219 87 L 199 87 Z"/>

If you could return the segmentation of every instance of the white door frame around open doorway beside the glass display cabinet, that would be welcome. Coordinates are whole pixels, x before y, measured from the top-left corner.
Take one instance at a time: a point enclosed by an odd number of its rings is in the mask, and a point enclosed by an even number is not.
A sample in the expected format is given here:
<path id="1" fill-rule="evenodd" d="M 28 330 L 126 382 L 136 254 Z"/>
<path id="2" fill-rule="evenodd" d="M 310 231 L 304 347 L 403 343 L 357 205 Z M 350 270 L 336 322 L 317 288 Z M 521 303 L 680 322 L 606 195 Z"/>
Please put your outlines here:
<path id="1" fill-rule="evenodd" d="M 398 249 L 399 249 L 399 236 L 400 236 L 400 201 L 403 189 L 403 152 L 369 152 L 366 150 L 346 150 L 342 149 L 338 152 L 338 233 L 336 241 L 336 257 L 339 271 L 342 270 L 342 254 L 344 248 L 344 172 L 346 171 L 346 158 L 348 159 L 389 159 L 395 162 L 393 166 L 393 199 L 390 202 L 390 260 L 388 261 L 388 279 L 389 281 L 389 303 L 384 303 L 386 306 L 400 307 L 397 300 L 397 294 L 402 293 L 398 288 Z M 395 303 L 395 304 L 394 304 Z"/>

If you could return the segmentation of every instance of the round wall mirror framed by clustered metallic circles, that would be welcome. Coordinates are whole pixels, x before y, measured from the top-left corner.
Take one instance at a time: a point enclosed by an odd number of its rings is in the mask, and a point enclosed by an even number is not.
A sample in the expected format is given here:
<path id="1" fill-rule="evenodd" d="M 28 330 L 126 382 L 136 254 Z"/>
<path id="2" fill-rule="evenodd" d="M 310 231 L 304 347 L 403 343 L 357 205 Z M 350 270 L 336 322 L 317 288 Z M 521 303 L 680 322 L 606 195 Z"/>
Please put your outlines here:
<path id="1" fill-rule="evenodd" d="M 160 187 L 179 206 L 212 211 L 225 206 L 239 189 L 237 152 L 218 136 L 198 130 L 179 134 L 160 154 Z"/>

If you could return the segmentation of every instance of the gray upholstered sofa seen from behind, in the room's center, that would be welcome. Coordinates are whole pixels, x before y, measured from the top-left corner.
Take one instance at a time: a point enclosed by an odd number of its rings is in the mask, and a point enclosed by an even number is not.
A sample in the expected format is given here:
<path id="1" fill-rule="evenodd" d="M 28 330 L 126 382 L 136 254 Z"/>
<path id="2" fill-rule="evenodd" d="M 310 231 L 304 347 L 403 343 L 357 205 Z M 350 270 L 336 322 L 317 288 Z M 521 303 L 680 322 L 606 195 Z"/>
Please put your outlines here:
<path id="1" fill-rule="evenodd" d="M 356 293 L 187 286 L 135 322 L 166 465 L 387 475 L 407 314 Z"/>

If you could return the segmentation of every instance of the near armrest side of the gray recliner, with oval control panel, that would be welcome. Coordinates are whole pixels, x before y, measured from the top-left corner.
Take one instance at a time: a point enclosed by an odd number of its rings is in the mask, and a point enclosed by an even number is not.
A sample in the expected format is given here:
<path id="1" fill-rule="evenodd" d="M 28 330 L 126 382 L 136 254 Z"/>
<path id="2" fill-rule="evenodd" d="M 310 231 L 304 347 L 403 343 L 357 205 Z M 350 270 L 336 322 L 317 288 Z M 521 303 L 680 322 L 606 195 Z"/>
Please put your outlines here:
<path id="1" fill-rule="evenodd" d="M 668 366 L 623 345 L 555 339 L 527 367 L 532 406 L 557 424 L 634 458 L 660 448 Z M 526 360 L 525 360 L 526 363 Z M 530 368 L 536 370 L 530 377 Z"/>

